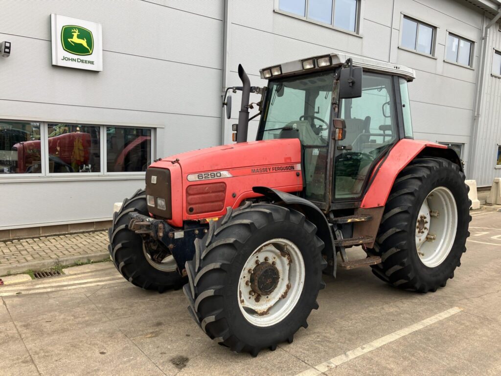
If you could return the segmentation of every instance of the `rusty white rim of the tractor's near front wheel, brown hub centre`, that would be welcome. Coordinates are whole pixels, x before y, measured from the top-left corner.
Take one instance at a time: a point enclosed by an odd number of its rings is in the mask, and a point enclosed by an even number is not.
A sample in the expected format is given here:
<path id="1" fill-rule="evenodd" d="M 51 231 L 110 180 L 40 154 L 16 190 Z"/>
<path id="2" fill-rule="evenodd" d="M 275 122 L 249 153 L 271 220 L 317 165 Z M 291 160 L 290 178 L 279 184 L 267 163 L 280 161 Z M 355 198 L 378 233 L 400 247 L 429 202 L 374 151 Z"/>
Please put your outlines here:
<path id="1" fill-rule="evenodd" d="M 266 270 L 268 274 L 256 269 L 262 263 L 259 269 Z M 253 286 L 256 288 L 256 285 L 269 286 L 259 282 L 271 281 L 265 277 L 270 273 L 276 275 L 276 272 L 278 278 L 273 278 L 275 282 L 271 283 L 276 285 L 273 291 L 268 294 L 254 291 Z M 254 273 L 262 277 L 253 277 Z M 304 284 L 305 263 L 299 248 L 287 239 L 272 239 L 259 246 L 245 262 L 238 281 L 238 306 L 251 324 L 261 327 L 275 325 L 296 307 Z M 263 292 L 259 288 L 257 290 Z"/>

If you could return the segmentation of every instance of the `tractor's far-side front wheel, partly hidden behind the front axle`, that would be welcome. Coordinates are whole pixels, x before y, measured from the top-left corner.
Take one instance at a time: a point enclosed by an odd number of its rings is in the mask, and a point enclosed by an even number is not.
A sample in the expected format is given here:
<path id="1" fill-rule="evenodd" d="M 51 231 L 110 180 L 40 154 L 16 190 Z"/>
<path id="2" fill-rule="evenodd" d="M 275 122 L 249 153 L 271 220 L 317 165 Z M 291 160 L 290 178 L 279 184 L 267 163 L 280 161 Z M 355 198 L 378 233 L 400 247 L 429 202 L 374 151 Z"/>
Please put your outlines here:
<path id="1" fill-rule="evenodd" d="M 130 199 L 125 199 L 122 208 L 113 215 L 109 229 L 108 251 L 117 270 L 132 284 L 147 290 L 163 292 L 169 288 L 180 288 L 184 279 L 179 275 L 176 262 L 167 256 L 161 263 L 154 262 L 146 252 L 148 245 L 141 235 L 129 230 L 129 213 L 148 216 L 146 194 L 138 190 Z"/>

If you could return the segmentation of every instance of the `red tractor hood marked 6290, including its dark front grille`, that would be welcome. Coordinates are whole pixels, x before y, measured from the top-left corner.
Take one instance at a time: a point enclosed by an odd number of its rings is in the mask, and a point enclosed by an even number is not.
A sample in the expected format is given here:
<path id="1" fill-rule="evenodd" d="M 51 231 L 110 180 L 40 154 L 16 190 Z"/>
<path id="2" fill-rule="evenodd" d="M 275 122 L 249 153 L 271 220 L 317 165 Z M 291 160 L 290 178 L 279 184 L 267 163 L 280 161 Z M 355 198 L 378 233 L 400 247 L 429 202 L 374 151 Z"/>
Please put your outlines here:
<path id="1" fill-rule="evenodd" d="M 157 203 L 150 214 L 173 227 L 185 221 L 218 218 L 227 207 L 261 196 L 254 186 L 282 192 L 303 190 L 298 138 L 240 142 L 188 151 L 152 163 L 146 171 L 146 194 Z"/>

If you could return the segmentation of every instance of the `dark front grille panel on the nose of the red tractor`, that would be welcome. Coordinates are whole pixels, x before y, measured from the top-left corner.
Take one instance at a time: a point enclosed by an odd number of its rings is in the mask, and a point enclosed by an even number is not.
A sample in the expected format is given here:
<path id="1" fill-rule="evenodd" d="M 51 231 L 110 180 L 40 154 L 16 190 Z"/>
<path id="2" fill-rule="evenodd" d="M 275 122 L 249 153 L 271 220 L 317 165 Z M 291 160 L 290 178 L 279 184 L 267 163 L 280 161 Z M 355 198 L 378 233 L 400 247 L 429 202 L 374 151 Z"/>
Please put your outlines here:
<path id="1" fill-rule="evenodd" d="M 146 195 L 155 198 L 155 206 L 148 206 L 148 211 L 163 219 L 172 219 L 170 170 L 150 167 L 146 170 Z M 165 210 L 157 208 L 157 199 L 165 200 Z"/>

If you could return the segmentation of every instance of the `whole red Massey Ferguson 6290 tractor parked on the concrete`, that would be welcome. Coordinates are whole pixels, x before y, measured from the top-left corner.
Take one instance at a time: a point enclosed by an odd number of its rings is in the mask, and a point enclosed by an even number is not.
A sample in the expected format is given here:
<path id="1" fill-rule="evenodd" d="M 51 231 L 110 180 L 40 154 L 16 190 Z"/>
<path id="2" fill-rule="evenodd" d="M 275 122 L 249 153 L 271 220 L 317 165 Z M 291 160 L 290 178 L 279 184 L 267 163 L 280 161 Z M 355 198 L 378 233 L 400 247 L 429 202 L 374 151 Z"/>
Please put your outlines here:
<path id="1" fill-rule="evenodd" d="M 444 287 L 466 250 L 470 203 L 457 154 L 413 139 L 414 70 L 335 53 L 265 68 L 262 88 L 238 74 L 236 143 L 148 167 L 109 231 L 118 271 L 143 289 L 186 283 L 200 328 L 254 356 L 307 327 L 322 274 L 337 267 L 370 266 L 421 293 Z M 230 97 L 223 105 L 229 118 Z M 349 258 L 353 246 L 366 257 Z"/>

